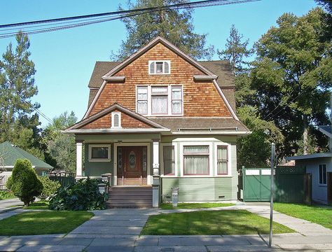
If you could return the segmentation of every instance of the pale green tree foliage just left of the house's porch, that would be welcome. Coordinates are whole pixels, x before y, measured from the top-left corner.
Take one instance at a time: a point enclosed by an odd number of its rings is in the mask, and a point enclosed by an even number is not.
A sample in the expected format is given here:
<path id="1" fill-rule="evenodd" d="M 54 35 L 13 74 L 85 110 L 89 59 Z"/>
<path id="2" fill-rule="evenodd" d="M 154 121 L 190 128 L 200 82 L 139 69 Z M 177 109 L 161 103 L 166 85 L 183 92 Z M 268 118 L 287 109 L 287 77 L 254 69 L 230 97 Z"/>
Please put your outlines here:
<path id="1" fill-rule="evenodd" d="M 74 111 L 67 111 L 53 118 L 43 131 L 43 144 L 46 148 L 46 161 L 53 167 L 66 172 L 75 172 L 76 145 L 74 137 L 61 134 L 61 130 L 76 123 Z"/>

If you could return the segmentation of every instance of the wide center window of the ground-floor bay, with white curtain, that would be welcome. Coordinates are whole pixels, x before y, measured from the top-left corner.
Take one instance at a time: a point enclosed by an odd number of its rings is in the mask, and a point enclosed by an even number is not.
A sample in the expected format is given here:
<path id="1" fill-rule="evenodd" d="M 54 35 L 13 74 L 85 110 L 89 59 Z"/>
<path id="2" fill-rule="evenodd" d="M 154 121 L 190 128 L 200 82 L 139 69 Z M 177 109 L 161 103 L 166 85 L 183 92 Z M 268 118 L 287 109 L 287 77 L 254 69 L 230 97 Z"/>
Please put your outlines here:
<path id="1" fill-rule="evenodd" d="M 209 175 L 209 146 L 184 146 L 184 175 Z"/>

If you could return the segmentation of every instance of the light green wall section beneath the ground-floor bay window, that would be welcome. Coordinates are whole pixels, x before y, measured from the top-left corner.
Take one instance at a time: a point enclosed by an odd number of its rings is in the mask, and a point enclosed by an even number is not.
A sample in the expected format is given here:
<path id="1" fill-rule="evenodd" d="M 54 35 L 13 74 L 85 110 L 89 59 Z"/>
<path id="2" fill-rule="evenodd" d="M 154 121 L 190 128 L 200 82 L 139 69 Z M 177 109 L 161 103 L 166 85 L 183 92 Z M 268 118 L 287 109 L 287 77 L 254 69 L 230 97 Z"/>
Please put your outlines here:
<path id="1" fill-rule="evenodd" d="M 179 187 L 179 201 L 181 202 L 236 200 L 233 198 L 232 178 L 164 177 L 161 181 L 162 195 L 172 196 L 172 188 Z"/>

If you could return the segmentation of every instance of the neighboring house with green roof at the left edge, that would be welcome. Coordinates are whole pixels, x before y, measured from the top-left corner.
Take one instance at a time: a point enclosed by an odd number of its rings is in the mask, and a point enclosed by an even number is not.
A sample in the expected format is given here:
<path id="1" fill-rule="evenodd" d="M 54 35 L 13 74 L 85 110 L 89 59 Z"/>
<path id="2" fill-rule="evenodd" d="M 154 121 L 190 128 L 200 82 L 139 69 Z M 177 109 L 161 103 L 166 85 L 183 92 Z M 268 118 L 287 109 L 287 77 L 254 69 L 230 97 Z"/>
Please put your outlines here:
<path id="1" fill-rule="evenodd" d="M 28 159 L 32 163 L 32 168 L 36 171 L 36 174 L 42 175 L 43 172 L 50 172 L 53 167 L 46 164 L 46 162 L 41 161 L 34 155 L 27 153 L 27 151 L 22 150 L 20 147 L 11 144 L 8 141 L 0 144 L 0 158 L 1 158 L 1 168 L 5 169 L 5 172 L 0 173 L 0 190 L 4 190 L 6 186 L 6 181 L 8 176 L 11 176 L 16 160 L 18 159 Z"/>

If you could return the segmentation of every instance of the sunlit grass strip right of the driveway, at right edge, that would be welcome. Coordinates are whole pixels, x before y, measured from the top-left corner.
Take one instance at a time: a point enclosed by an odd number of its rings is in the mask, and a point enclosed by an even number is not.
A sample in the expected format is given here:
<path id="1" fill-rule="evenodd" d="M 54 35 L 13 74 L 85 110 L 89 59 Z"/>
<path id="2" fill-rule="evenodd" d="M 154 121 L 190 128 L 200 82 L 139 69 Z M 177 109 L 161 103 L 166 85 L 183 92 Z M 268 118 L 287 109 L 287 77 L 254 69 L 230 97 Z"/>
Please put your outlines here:
<path id="1" fill-rule="evenodd" d="M 305 204 L 275 203 L 275 211 L 282 214 L 311 221 L 332 229 L 332 209 L 317 206 L 306 206 Z"/>

